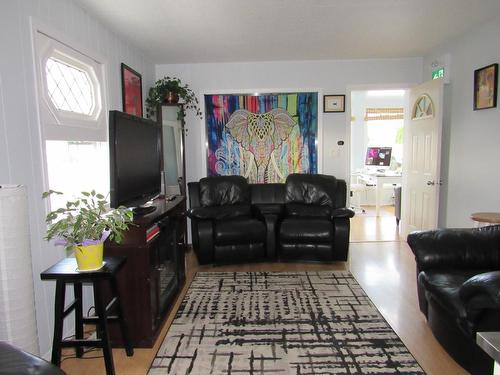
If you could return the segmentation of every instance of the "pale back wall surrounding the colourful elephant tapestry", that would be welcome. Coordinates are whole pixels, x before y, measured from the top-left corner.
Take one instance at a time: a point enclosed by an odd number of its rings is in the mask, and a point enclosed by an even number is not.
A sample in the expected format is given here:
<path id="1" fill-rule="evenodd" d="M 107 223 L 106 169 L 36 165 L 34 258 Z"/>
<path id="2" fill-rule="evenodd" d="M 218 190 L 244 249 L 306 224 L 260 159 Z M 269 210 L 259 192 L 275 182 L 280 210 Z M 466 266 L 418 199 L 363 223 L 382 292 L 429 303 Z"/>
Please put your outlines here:
<path id="1" fill-rule="evenodd" d="M 224 64 L 157 65 L 156 78 L 176 76 L 197 93 L 218 90 L 315 89 L 322 94 L 346 94 L 355 85 L 391 85 L 420 83 L 422 60 L 335 60 L 255 62 Z M 320 97 L 322 101 L 323 98 Z M 203 106 L 203 102 L 201 103 Z M 337 146 L 346 140 L 346 113 L 321 113 L 323 120 L 323 173 L 338 178 L 348 175 L 347 148 Z M 206 158 L 205 124 L 189 114 L 186 118 L 186 178 L 197 181 L 206 176 L 202 160 Z"/>

